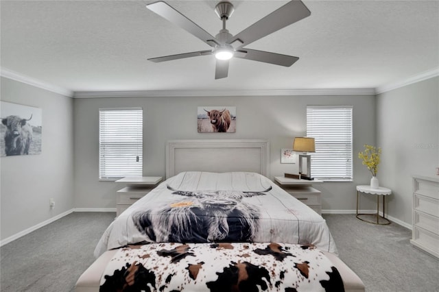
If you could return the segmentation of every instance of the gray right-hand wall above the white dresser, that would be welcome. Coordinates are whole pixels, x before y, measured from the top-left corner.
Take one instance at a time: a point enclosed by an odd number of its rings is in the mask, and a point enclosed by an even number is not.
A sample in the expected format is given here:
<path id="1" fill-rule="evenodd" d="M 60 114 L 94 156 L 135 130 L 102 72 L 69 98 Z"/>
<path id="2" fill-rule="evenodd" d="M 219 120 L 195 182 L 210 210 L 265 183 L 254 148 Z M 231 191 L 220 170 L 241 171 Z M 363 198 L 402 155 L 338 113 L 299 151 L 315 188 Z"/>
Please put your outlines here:
<path id="1" fill-rule="evenodd" d="M 380 185 L 392 188 L 388 214 L 412 223 L 412 175 L 439 167 L 439 77 L 377 96 Z"/>

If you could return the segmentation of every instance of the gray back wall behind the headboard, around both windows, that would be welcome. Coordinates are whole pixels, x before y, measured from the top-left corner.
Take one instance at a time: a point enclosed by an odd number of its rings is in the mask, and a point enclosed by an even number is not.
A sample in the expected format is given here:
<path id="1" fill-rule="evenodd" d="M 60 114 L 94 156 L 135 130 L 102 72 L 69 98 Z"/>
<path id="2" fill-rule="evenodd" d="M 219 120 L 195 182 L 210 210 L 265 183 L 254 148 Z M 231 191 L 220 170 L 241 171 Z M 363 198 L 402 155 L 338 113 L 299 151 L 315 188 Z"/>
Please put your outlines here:
<path id="1" fill-rule="evenodd" d="M 75 206 L 115 208 L 114 182 L 98 180 L 99 108 L 141 106 L 143 108 L 143 175 L 165 176 L 165 143 L 173 139 L 261 138 L 270 141 L 271 175 L 297 173 L 298 166 L 280 163 L 281 148 L 292 148 L 294 136 L 306 133 L 307 105 L 353 106 L 354 182 L 325 182 L 322 208 L 355 210 L 357 184 L 368 184 L 370 175 L 357 153 L 364 144 L 375 143 L 375 96 L 295 97 L 133 97 L 75 99 Z M 197 132 L 198 106 L 236 106 L 237 132 Z M 120 188 L 120 186 L 119 186 Z M 365 199 L 362 207 L 372 209 Z"/>

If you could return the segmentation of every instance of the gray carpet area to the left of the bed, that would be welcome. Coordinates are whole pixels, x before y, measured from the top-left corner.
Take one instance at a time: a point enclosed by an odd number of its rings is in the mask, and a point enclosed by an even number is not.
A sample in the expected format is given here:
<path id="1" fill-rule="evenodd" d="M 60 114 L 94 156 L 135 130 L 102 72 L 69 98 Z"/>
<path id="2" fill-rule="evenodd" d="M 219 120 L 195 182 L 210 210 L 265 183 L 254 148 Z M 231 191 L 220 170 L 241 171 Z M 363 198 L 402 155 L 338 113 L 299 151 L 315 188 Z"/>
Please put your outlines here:
<path id="1" fill-rule="evenodd" d="M 1 292 L 74 291 L 115 212 L 73 212 L 0 249 Z"/>

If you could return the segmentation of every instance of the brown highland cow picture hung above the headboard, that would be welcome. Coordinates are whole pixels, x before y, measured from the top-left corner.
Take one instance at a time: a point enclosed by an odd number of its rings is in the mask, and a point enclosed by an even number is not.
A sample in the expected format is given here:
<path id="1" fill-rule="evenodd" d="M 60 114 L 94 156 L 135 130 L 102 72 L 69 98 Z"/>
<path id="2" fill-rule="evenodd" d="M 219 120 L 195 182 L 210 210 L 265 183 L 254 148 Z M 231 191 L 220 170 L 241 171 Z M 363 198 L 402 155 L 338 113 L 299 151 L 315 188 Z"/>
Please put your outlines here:
<path id="1" fill-rule="evenodd" d="M 198 133 L 235 133 L 236 106 L 199 106 Z"/>

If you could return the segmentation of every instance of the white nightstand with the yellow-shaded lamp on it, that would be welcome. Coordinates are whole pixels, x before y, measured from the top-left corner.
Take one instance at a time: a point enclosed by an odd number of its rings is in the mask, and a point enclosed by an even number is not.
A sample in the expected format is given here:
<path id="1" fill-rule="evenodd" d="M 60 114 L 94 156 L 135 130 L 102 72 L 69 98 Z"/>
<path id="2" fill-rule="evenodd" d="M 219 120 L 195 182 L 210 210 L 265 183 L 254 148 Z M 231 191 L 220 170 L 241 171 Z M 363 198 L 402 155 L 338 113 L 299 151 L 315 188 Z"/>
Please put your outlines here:
<path id="1" fill-rule="evenodd" d="M 274 177 L 274 181 L 287 193 L 300 200 L 303 204 L 322 215 L 322 193 L 312 187 L 312 184 L 320 184 L 322 180 L 297 180 L 296 178 Z"/>

